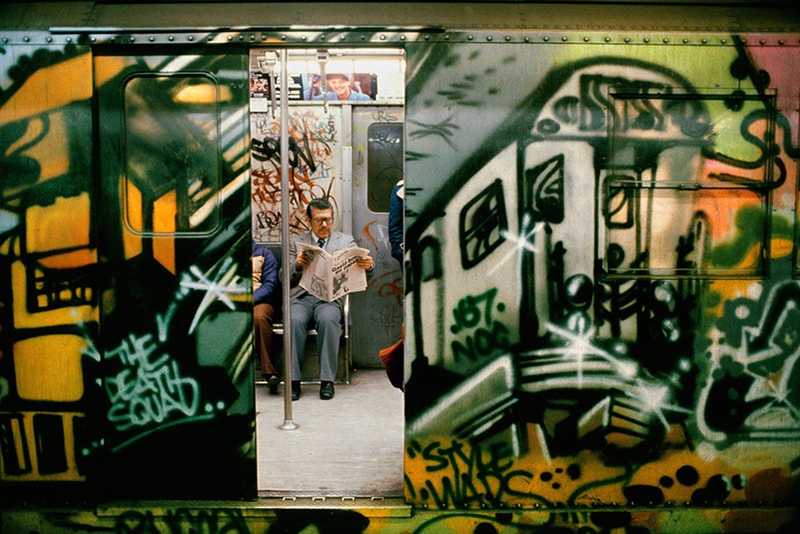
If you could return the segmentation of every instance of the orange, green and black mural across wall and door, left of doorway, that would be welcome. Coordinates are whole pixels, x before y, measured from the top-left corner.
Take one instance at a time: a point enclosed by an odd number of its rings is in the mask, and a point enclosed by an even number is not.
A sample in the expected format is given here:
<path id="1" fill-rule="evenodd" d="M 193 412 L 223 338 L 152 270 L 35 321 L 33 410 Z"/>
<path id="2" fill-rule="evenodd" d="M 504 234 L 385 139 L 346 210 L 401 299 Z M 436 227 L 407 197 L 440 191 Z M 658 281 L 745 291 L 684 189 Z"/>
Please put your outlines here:
<path id="1" fill-rule="evenodd" d="M 0 122 L 4 494 L 252 494 L 242 59 L 15 52 Z"/>

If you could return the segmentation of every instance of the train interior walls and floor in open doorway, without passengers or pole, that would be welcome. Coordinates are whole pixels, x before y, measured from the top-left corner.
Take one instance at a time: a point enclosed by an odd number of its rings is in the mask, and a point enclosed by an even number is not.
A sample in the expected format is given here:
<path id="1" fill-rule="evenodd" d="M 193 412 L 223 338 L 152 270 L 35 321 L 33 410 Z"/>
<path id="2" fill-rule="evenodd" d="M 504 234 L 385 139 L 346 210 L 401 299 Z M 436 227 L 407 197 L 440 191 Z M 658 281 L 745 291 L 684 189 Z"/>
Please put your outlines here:
<path id="1" fill-rule="evenodd" d="M 349 296 L 350 368 L 348 373 L 339 369 L 333 399 L 322 400 L 318 394 L 312 340 L 297 401 L 287 400 L 283 382 L 277 394 L 270 394 L 256 368 L 258 494 L 401 497 L 403 393 L 389 382 L 378 351 L 400 339 L 403 325 L 403 270 L 391 256 L 387 227 L 389 196 L 403 179 L 404 52 L 286 51 L 286 194 L 281 187 L 281 90 L 276 75 L 282 66 L 276 52 L 250 52 L 253 239 L 270 248 L 280 265 L 288 253 L 283 224 L 288 224 L 290 238 L 307 232 L 306 206 L 326 197 L 333 205 L 334 230 L 352 235 L 357 246 L 368 249 L 375 268 L 367 289 Z M 286 220 L 282 202 L 288 202 Z M 285 277 L 281 282 L 290 283 Z M 281 374 L 282 341 L 275 336 L 273 342 L 273 360 Z M 291 402 L 296 428 L 284 428 L 285 402 Z"/>

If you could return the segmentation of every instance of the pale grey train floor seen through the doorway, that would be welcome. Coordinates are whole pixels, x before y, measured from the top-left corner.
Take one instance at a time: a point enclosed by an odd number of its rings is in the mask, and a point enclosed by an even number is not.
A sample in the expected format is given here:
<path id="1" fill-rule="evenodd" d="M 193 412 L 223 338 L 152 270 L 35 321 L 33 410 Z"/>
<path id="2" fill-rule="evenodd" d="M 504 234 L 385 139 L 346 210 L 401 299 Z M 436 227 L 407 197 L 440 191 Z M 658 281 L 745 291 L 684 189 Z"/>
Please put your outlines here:
<path id="1" fill-rule="evenodd" d="M 303 384 L 287 418 L 283 384 L 270 395 L 256 382 L 260 497 L 402 496 L 402 391 L 384 369 L 354 370 L 335 389 L 321 400 L 318 383 Z"/>

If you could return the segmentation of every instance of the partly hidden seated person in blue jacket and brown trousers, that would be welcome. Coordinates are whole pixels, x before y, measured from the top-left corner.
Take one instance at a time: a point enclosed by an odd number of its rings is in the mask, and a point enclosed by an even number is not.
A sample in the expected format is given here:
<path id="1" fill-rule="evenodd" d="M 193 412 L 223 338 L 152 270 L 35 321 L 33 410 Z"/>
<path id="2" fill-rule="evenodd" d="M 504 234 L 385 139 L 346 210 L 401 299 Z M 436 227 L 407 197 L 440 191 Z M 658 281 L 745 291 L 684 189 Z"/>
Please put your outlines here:
<path id="1" fill-rule="evenodd" d="M 272 355 L 272 325 L 280 313 L 281 285 L 278 260 L 270 249 L 253 240 L 253 339 L 261 362 L 261 377 L 269 392 L 278 392 L 278 371 Z"/>

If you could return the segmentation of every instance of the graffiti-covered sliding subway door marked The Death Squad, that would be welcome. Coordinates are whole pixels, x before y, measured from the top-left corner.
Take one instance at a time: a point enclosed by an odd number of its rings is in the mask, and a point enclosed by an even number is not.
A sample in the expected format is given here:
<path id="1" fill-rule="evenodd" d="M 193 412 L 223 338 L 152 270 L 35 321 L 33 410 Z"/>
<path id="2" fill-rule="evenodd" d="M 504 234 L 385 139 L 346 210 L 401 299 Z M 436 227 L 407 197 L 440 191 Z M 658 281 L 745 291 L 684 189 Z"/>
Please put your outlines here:
<path id="1" fill-rule="evenodd" d="M 95 72 L 112 495 L 253 497 L 247 57 Z"/>

